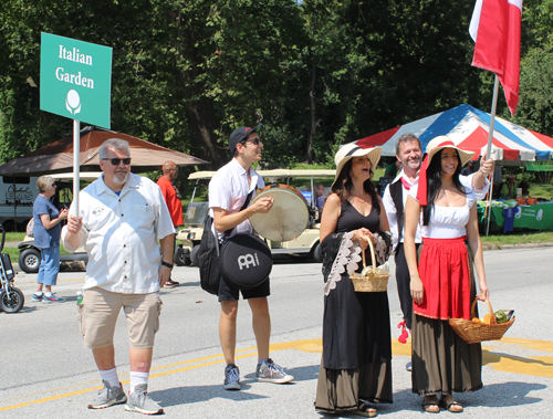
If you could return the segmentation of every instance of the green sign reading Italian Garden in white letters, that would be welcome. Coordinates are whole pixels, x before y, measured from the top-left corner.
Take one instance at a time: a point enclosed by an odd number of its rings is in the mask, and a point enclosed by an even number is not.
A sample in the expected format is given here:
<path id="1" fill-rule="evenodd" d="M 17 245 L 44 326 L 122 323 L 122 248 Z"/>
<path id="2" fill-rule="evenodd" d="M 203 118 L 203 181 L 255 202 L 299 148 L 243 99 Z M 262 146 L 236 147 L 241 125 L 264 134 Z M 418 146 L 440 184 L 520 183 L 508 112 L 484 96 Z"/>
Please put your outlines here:
<path id="1" fill-rule="evenodd" d="M 109 128 L 111 94 L 111 48 L 42 32 L 42 111 Z"/>

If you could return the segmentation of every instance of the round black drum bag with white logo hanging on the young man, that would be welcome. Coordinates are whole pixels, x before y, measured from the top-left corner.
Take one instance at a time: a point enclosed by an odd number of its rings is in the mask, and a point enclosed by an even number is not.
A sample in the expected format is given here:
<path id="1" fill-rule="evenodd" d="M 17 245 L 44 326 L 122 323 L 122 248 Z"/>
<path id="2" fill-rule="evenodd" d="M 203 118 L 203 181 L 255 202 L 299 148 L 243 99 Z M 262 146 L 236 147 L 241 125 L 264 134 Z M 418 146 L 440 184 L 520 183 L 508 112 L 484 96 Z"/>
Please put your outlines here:
<path id="1" fill-rule="evenodd" d="M 249 290 L 269 279 L 273 260 L 263 240 L 255 235 L 236 234 L 222 245 L 219 266 L 227 282 L 240 290 Z"/>

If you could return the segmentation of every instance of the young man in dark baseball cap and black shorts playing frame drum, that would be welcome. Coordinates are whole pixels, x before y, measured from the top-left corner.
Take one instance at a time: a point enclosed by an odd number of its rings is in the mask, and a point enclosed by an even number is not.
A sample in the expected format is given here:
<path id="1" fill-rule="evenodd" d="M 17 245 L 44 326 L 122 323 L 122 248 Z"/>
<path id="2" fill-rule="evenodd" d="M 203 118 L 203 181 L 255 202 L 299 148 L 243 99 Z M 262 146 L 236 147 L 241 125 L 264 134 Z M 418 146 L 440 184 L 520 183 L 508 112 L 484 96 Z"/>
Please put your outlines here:
<path id="1" fill-rule="evenodd" d="M 238 233 L 254 234 L 249 218 L 254 213 L 267 213 L 273 206 L 273 199 L 267 197 L 260 198 L 242 209 L 248 196 L 251 193 L 251 200 L 253 200 L 255 190 L 265 186 L 263 178 L 251 168 L 253 163 L 261 160 L 263 143 L 258 132 L 262 127 L 262 125 L 258 125 L 255 128 L 240 127 L 232 132 L 229 138 L 229 149 L 233 158 L 221 167 L 209 182 L 209 209 L 220 243 L 226 238 L 223 232 L 227 230 L 232 229 L 229 237 Z M 270 280 L 268 279 L 251 290 L 240 290 L 221 277 L 218 293 L 221 303 L 219 337 L 227 363 L 225 389 L 240 389 L 240 371 L 234 364 L 240 293 L 244 300 L 248 300 L 252 311 L 253 333 L 255 334 L 259 357 L 255 378 L 259 381 L 276 384 L 292 381 L 294 377 L 288 375 L 282 367 L 269 358 L 271 317 L 267 297 L 270 294 Z"/>

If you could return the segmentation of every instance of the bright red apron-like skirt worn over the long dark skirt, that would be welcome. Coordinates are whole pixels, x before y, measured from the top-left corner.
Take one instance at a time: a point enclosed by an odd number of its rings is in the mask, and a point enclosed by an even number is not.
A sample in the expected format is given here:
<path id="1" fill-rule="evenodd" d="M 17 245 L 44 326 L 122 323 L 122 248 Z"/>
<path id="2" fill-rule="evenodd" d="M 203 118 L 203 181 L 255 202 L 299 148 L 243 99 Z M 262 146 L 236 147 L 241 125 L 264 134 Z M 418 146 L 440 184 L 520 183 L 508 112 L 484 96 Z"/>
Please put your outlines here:
<path id="1" fill-rule="evenodd" d="M 472 266 L 466 239 L 422 239 L 418 272 L 425 292 L 421 304 L 413 303 L 415 314 L 470 320 Z"/>

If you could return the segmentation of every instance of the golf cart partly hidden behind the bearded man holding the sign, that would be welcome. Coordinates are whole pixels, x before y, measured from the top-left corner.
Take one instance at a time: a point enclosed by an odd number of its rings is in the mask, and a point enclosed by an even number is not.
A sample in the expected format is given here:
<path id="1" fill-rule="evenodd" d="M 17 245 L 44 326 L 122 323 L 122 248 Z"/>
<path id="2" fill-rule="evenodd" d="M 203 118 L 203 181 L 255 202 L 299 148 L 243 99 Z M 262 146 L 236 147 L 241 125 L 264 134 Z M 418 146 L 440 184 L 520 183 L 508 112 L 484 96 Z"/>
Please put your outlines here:
<path id="1" fill-rule="evenodd" d="M 92 182 L 96 180 L 101 171 L 84 171 L 80 174 L 80 179 Z M 58 208 L 69 208 L 73 199 L 73 174 L 50 175 L 56 182 L 54 195 L 54 205 Z M 34 245 L 34 238 L 25 235 L 23 241 L 18 244 L 19 248 L 19 268 L 27 273 L 39 272 L 41 254 L 40 249 Z M 88 262 L 88 255 L 84 249 L 77 249 L 75 253 L 60 254 L 60 268 L 80 268 L 85 269 Z"/>

